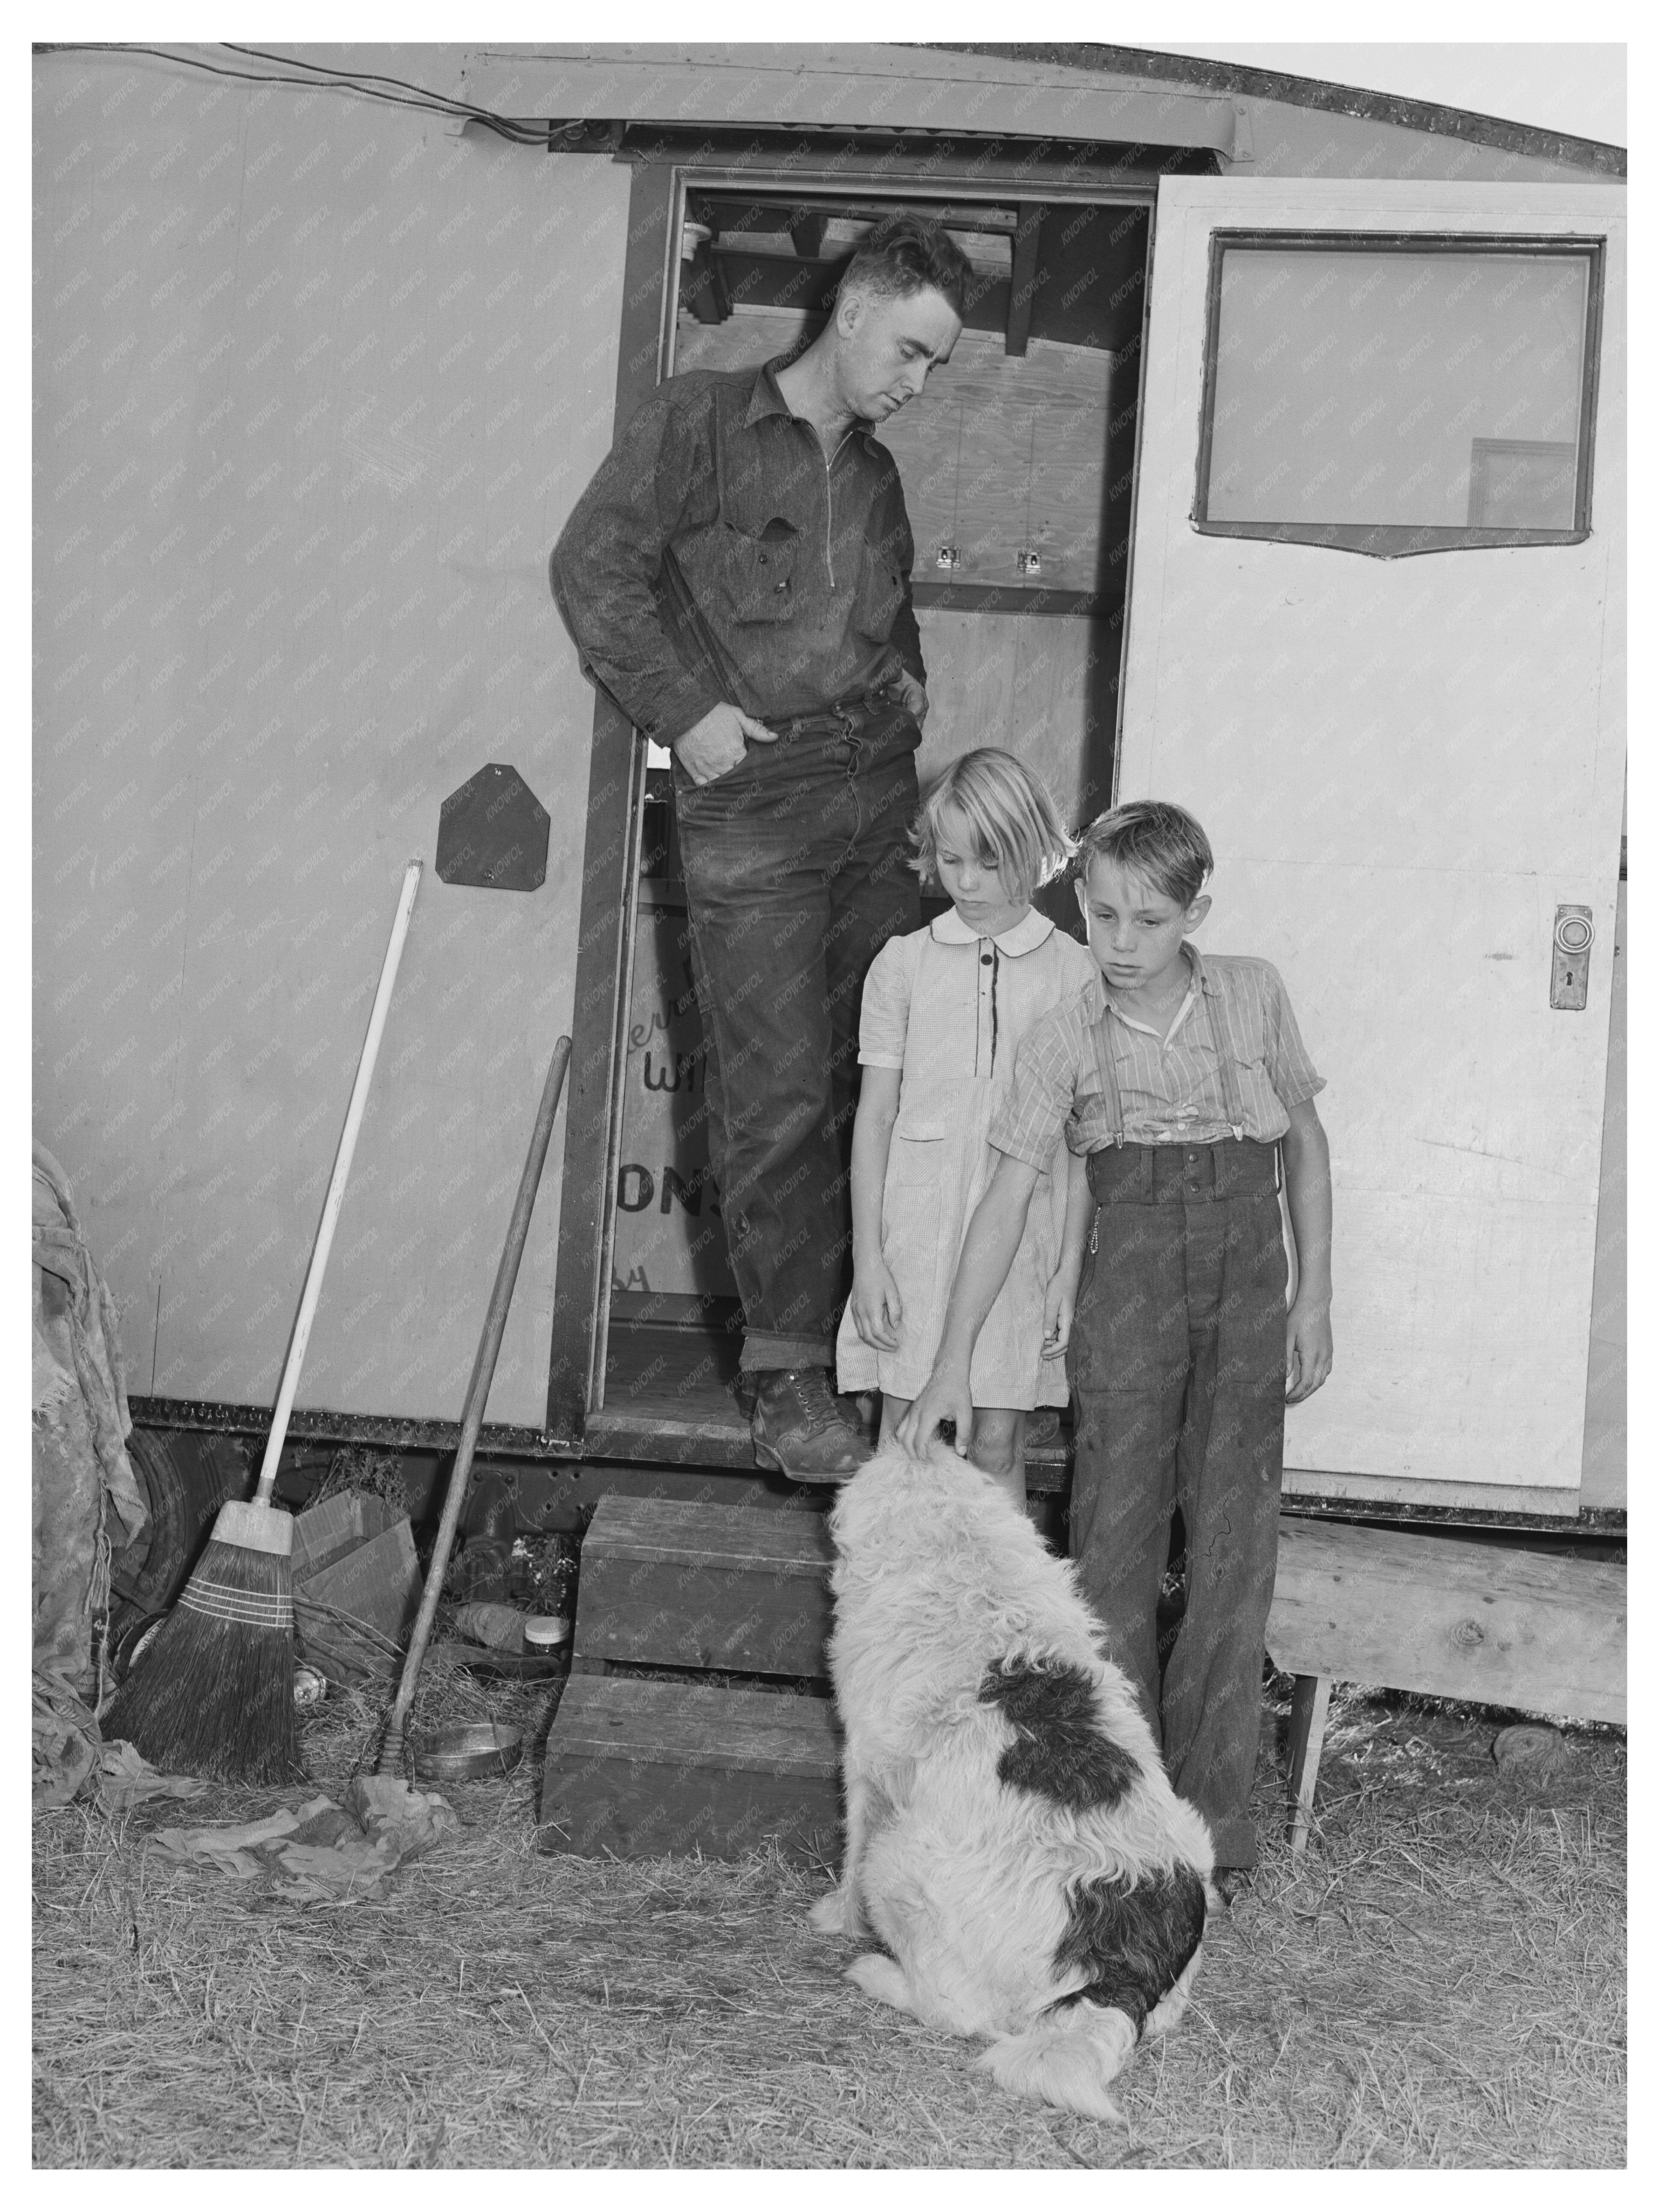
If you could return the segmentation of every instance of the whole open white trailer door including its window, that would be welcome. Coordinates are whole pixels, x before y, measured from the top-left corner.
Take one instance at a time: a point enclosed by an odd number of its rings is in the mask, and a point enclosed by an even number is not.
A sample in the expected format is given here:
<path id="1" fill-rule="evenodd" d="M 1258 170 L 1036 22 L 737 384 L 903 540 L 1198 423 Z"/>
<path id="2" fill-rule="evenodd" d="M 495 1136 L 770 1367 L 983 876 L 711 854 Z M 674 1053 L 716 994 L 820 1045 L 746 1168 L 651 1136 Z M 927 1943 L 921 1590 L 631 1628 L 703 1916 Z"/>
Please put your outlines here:
<path id="1" fill-rule="evenodd" d="M 1624 394 L 1615 186 L 1159 188 L 1119 796 L 1203 821 L 1201 945 L 1279 964 L 1329 1084 L 1336 1369 L 1290 1489 L 1579 1486 Z"/>

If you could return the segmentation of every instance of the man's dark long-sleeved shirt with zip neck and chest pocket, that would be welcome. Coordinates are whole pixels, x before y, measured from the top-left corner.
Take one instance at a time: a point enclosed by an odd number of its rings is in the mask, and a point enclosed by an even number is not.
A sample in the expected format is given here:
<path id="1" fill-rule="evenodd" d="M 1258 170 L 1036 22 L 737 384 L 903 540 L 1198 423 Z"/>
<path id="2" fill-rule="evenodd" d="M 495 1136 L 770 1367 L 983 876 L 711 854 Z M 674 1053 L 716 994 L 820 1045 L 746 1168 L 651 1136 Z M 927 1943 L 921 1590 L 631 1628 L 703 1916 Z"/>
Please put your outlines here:
<path id="1" fill-rule="evenodd" d="M 584 672 L 664 745 L 723 699 L 779 721 L 925 681 L 898 465 L 863 425 L 825 462 L 776 367 L 670 378 L 553 549 Z"/>

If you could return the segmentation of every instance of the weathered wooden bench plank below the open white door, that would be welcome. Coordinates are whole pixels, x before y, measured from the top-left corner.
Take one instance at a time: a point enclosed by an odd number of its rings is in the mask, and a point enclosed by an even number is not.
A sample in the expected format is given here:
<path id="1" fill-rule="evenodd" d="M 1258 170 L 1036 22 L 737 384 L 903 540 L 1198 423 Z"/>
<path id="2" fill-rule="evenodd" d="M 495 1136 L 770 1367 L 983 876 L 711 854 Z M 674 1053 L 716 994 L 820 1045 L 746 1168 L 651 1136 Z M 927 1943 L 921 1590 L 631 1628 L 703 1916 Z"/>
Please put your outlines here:
<path id="1" fill-rule="evenodd" d="M 1267 1650 L 1287 1674 L 1624 1721 L 1626 1573 L 1285 1517 Z"/>

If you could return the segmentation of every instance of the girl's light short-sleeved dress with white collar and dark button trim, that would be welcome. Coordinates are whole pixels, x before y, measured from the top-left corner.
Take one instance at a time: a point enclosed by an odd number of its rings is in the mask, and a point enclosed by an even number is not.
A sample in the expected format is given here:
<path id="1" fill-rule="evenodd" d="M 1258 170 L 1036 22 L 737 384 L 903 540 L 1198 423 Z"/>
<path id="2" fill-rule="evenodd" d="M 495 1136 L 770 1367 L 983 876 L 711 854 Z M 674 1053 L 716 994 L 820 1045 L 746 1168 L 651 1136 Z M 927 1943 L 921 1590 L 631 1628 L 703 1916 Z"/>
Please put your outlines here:
<path id="1" fill-rule="evenodd" d="M 900 1068 L 898 1121 L 883 1188 L 883 1259 L 898 1285 L 898 1352 L 878 1352 L 843 1314 L 843 1391 L 880 1387 L 914 1398 L 938 1354 L 945 1305 L 973 1208 L 995 1168 L 987 1133 L 1013 1086 L 1029 1031 L 1095 987 L 1086 947 L 1035 909 L 995 938 L 951 907 L 927 929 L 891 938 L 865 980 L 863 1066 Z M 1064 1360 L 1042 1358 L 1042 1303 L 1066 1221 L 1064 1139 L 1051 1141 L 1009 1281 L 973 1352 L 975 1405 L 1066 1402 Z"/>

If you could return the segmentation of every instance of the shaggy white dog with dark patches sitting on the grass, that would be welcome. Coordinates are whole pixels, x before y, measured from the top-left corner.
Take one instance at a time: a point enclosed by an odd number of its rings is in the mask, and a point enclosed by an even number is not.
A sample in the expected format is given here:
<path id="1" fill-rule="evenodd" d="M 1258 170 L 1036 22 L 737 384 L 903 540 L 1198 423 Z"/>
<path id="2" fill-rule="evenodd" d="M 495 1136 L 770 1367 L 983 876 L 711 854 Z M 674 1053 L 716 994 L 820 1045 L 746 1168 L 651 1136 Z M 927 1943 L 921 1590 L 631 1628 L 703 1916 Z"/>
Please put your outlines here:
<path id="1" fill-rule="evenodd" d="M 1186 2011 L 1208 1876 L 1102 1630 L 1011 1500 L 956 1453 L 883 1451 L 841 1493 L 830 1668 L 847 1856 L 821 1933 L 847 1969 L 1024 2095 L 1117 2119 L 1106 2086 Z"/>

